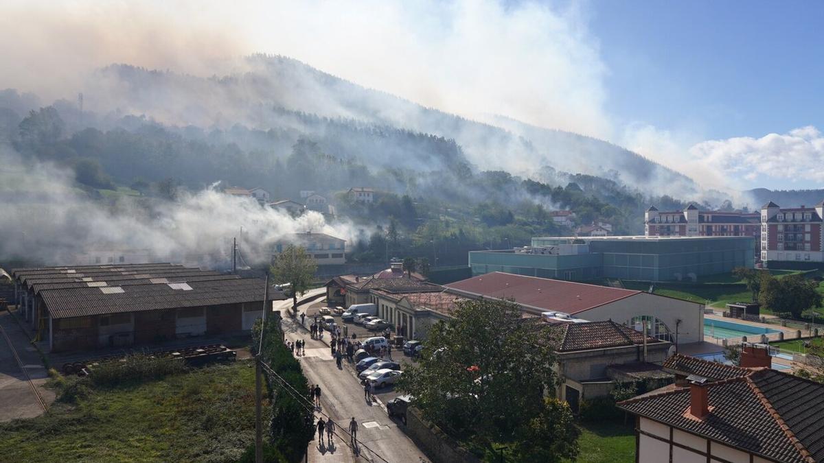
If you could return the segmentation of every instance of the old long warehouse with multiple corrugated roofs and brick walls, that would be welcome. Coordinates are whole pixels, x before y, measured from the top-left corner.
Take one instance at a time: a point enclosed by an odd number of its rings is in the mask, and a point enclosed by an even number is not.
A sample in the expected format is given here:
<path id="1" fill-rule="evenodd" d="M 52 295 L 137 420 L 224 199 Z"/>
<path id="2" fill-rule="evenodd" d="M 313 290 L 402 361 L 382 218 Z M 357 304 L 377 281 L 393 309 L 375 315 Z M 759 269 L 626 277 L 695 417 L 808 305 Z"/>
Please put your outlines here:
<path id="1" fill-rule="evenodd" d="M 15 298 L 50 352 L 250 330 L 284 299 L 265 281 L 175 264 L 14 269 Z"/>

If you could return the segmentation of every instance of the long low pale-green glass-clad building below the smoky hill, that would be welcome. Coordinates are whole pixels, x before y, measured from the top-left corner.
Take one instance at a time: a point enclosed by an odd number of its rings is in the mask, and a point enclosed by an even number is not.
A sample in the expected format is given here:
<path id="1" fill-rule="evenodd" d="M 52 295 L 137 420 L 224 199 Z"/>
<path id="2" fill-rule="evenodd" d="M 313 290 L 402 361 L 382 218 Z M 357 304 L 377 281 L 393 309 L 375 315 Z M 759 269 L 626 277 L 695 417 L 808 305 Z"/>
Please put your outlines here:
<path id="1" fill-rule="evenodd" d="M 538 255 L 512 251 L 473 251 L 473 275 L 508 272 L 543 278 L 587 280 L 624 278 L 644 281 L 689 280 L 727 274 L 754 264 L 755 240 L 750 236 L 694 238 L 587 239 L 588 254 Z M 533 238 L 532 246 L 569 243 L 569 238 Z"/>

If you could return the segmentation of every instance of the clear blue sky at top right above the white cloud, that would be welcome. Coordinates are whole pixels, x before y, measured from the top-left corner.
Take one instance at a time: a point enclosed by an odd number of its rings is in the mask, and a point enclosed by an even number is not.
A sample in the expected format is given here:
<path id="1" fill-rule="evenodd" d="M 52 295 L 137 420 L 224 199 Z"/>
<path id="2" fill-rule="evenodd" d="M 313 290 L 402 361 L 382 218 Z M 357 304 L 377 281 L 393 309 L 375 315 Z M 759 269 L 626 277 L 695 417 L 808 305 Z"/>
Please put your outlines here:
<path id="1" fill-rule="evenodd" d="M 824 126 L 824 2 L 589 5 L 617 118 L 708 138 Z"/>

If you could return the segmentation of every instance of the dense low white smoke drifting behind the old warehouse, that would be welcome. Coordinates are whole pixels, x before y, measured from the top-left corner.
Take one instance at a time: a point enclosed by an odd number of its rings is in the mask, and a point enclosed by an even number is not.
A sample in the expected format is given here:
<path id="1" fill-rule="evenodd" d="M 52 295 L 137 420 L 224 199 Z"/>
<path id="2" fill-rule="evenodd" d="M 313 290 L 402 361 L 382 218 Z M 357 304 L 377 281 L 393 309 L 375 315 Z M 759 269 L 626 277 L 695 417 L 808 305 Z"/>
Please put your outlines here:
<path id="1" fill-rule="evenodd" d="M 0 166 L 0 259 L 73 264 L 102 247 L 225 266 L 237 237 L 246 262 L 262 264 L 274 243 L 292 241 L 294 233 L 323 232 L 350 243 L 354 236 L 348 224 L 330 226 L 320 213 L 291 217 L 215 189 L 181 192 L 176 201 L 121 197 L 106 203 L 90 199 L 74 186 L 71 171 L 54 165 L 26 163 L 6 150 Z"/>

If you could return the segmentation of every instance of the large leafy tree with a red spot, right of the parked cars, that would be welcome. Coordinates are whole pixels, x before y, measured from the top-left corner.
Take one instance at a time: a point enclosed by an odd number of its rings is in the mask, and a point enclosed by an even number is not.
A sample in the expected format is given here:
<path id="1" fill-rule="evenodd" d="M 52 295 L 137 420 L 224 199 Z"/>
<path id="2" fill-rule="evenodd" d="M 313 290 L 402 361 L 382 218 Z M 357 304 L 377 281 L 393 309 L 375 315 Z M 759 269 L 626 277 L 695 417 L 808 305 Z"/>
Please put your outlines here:
<path id="1" fill-rule="evenodd" d="M 549 325 L 523 320 L 513 302 L 457 302 L 449 321 L 432 325 L 419 366 L 407 368 L 397 388 L 427 419 L 480 447 L 520 442 L 537 428 L 552 434 L 534 443 L 551 451 L 574 433 L 544 401 L 555 388 L 553 335 Z"/>

